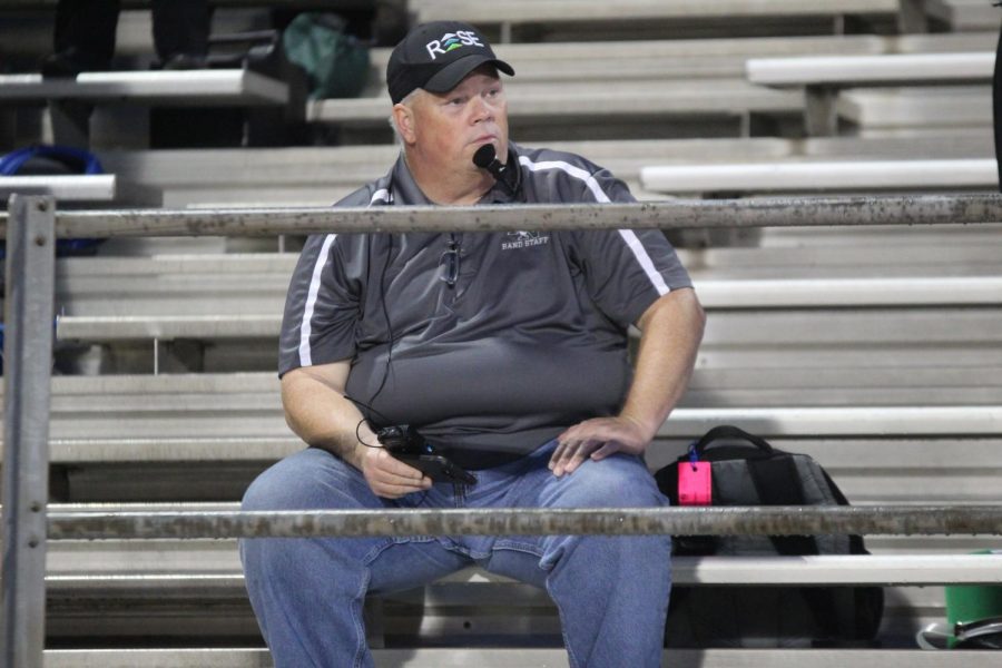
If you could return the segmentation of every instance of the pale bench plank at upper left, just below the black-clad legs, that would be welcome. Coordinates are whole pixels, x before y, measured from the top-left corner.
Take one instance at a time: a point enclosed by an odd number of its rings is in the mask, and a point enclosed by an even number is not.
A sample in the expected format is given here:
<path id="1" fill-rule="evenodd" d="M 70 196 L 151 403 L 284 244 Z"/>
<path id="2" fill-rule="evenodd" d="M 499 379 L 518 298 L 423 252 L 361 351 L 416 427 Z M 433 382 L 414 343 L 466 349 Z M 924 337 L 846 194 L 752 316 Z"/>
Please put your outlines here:
<path id="1" fill-rule="evenodd" d="M 284 105 L 288 87 L 246 69 L 81 72 L 75 79 L 0 75 L 0 106 L 46 100 L 148 105 Z"/>

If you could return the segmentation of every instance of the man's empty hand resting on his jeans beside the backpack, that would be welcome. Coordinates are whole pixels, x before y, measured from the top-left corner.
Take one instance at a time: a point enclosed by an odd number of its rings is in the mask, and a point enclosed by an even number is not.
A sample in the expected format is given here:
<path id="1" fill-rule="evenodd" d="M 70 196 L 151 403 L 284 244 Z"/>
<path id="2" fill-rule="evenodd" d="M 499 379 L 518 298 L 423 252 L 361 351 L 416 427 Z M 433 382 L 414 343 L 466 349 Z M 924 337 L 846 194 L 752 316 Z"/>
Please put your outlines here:
<path id="1" fill-rule="evenodd" d="M 559 478 L 573 473 L 589 458 L 599 461 L 616 452 L 640 454 L 651 438 L 638 420 L 626 415 L 586 420 L 557 436 L 550 470 Z"/>

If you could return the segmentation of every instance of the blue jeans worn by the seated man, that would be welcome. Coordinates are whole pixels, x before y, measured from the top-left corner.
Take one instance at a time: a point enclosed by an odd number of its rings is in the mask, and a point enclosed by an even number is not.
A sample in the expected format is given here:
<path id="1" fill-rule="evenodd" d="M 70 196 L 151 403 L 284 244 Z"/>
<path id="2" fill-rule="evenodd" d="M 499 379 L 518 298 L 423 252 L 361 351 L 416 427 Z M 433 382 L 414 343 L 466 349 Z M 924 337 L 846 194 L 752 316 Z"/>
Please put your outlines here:
<path id="1" fill-rule="evenodd" d="M 557 478 L 553 443 L 510 464 L 391 501 L 355 468 L 316 449 L 265 471 L 244 510 L 649 508 L 667 505 L 644 462 L 617 454 Z M 544 588 L 570 666 L 660 666 L 671 578 L 667 536 L 257 538 L 240 541 L 250 603 L 276 668 L 371 667 L 366 593 L 418 587 L 471 564 Z"/>

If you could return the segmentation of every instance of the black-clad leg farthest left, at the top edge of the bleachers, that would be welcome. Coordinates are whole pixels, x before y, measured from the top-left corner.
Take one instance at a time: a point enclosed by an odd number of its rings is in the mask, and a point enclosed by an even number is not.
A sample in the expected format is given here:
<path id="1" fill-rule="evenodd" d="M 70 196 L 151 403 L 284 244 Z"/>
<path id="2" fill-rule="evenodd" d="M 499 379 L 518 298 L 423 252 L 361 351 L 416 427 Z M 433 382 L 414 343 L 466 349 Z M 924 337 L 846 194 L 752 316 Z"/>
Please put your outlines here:
<path id="1" fill-rule="evenodd" d="M 52 30 L 52 50 L 42 73 L 70 77 L 106 70 L 115 56 L 118 0 L 59 0 Z"/>

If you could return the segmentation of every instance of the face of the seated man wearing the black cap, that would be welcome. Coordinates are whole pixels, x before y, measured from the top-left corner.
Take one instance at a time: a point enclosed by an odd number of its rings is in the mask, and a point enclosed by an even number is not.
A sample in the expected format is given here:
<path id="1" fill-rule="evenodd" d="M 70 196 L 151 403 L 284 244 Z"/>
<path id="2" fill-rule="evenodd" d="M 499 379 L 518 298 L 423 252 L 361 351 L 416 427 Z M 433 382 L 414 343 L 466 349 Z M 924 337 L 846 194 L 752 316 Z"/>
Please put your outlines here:
<path id="1" fill-rule="evenodd" d="M 419 96 L 414 114 L 414 148 L 443 166 L 473 167 L 473 154 L 493 144 L 498 157 L 508 156 L 508 102 L 498 72 L 490 66 L 473 70 L 449 92 Z"/>

